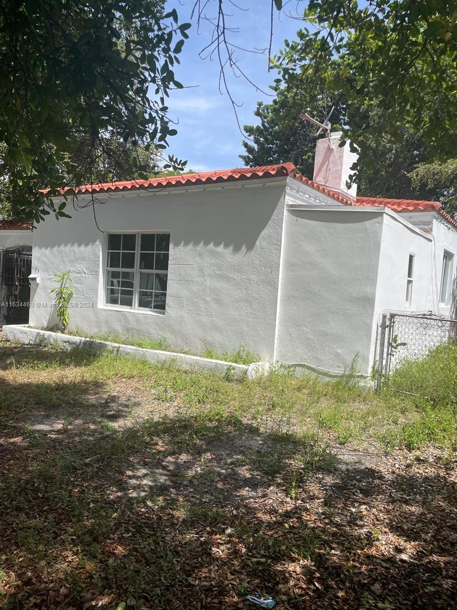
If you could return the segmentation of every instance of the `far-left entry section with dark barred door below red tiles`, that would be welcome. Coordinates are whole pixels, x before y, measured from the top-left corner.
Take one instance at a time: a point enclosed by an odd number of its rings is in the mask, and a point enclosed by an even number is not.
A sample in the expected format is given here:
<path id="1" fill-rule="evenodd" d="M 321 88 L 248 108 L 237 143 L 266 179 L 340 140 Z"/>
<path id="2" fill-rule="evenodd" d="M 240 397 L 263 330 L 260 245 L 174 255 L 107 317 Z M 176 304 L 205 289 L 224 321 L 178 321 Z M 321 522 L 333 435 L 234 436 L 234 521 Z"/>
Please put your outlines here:
<path id="1" fill-rule="evenodd" d="M 0 219 L 0 327 L 29 319 L 32 242 L 30 224 Z"/>

